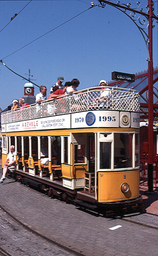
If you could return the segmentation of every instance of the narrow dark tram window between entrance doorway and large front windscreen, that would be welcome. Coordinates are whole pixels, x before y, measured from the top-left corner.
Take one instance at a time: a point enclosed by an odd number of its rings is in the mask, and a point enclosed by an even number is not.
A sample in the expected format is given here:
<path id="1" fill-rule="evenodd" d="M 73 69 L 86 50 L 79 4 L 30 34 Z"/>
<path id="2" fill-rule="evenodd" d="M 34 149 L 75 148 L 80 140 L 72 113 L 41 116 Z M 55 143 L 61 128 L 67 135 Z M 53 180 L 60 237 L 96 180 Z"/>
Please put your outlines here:
<path id="1" fill-rule="evenodd" d="M 100 169 L 111 169 L 111 142 L 100 142 Z"/>

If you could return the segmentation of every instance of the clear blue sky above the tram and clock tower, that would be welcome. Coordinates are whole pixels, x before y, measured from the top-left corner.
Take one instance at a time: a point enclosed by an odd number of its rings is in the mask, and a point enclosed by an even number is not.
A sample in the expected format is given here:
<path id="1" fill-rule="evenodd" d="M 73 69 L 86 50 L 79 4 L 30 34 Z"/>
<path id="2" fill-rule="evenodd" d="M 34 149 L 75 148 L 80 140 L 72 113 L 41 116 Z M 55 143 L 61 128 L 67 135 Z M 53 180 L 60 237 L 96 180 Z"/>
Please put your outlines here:
<path id="1" fill-rule="evenodd" d="M 116 2 L 116 0 L 112 0 Z M 0 1 L 0 30 L 28 1 Z M 29 68 L 36 84 L 46 85 L 47 94 L 58 76 L 65 81 L 78 78 L 79 89 L 111 80 L 111 72 L 136 73 L 146 70 L 147 49 L 136 25 L 125 14 L 107 5 L 94 7 L 29 46 L 5 58 L 32 40 L 90 7 L 91 0 L 32 0 L 0 32 L 0 59 L 25 76 Z M 98 4 L 98 1 L 94 1 Z M 120 1 L 121 2 L 121 1 Z M 124 0 L 123 2 L 128 2 Z M 131 0 L 131 7 L 137 0 Z M 141 1 L 146 10 L 147 0 Z M 155 1 L 155 14 L 158 1 Z M 158 24 L 154 22 L 153 58 L 158 65 Z M 24 95 L 25 80 L 0 65 L 0 107 Z M 35 95 L 39 88 L 35 87 Z M 47 95 L 48 96 L 48 95 Z"/>

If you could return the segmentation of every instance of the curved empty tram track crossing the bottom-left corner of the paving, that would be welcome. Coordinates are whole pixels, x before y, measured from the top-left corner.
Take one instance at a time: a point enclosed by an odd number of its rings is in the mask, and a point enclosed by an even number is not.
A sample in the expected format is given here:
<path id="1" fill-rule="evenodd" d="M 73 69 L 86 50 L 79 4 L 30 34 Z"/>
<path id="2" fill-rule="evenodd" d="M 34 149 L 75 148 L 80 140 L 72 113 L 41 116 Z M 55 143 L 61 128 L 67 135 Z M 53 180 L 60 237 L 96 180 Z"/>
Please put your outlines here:
<path id="1" fill-rule="evenodd" d="M 13 221 L 15 221 L 17 224 L 19 224 L 20 226 L 22 226 L 23 228 L 25 228 L 26 230 L 28 230 L 29 232 L 31 232 L 33 235 L 37 236 L 38 238 L 40 239 L 43 239 L 43 240 L 46 240 L 47 242 L 49 242 L 50 244 L 52 245 L 55 245 L 57 247 L 59 247 L 60 249 L 63 249 L 71 254 L 74 254 L 75 256 L 86 256 L 84 254 L 82 254 L 81 252 L 77 252 L 73 249 L 70 249 L 68 247 L 66 247 L 65 245 L 62 245 L 54 240 L 51 240 L 49 238 L 47 238 L 46 236 L 36 232 L 35 230 L 33 230 L 32 228 L 30 228 L 28 225 L 22 223 L 21 221 L 17 220 L 16 217 L 11 214 L 8 210 L 6 210 L 4 207 L 2 207 L 0 205 L 0 210 L 2 210 L 5 214 L 7 214 Z M 10 255 L 7 251 L 3 250 L 1 247 L 0 247 L 0 256 L 12 256 Z"/>

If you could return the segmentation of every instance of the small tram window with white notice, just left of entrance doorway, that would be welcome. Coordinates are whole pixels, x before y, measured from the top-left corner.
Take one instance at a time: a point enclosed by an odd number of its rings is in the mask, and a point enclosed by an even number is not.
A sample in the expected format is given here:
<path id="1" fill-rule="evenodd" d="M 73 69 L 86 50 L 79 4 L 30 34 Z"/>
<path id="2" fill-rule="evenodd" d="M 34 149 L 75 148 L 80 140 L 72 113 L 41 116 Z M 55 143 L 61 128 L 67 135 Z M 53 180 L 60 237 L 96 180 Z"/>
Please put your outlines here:
<path id="1" fill-rule="evenodd" d="M 74 163 L 85 163 L 86 146 L 84 144 L 74 145 Z"/>

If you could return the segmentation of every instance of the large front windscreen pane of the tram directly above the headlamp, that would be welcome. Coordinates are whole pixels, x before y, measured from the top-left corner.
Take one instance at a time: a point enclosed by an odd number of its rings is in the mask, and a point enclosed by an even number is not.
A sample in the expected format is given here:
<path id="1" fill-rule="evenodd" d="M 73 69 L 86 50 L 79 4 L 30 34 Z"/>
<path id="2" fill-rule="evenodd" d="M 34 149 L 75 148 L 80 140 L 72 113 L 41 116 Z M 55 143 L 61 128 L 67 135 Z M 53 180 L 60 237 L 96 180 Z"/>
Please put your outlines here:
<path id="1" fill-rule="evenodd" d="M 131 133 L 114 134 L 114 168 L 132 168 Z"/>

